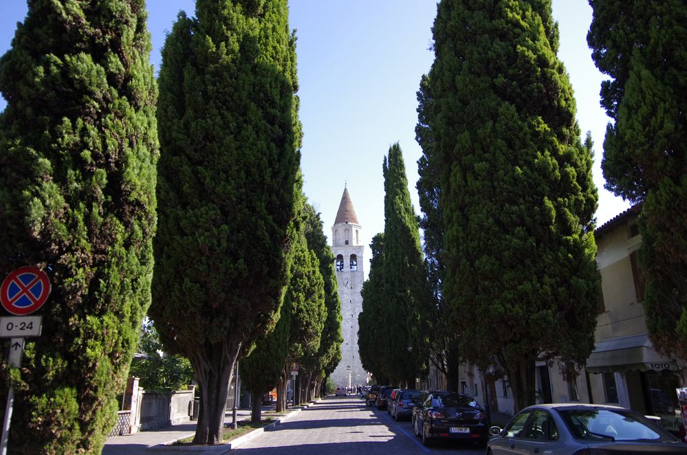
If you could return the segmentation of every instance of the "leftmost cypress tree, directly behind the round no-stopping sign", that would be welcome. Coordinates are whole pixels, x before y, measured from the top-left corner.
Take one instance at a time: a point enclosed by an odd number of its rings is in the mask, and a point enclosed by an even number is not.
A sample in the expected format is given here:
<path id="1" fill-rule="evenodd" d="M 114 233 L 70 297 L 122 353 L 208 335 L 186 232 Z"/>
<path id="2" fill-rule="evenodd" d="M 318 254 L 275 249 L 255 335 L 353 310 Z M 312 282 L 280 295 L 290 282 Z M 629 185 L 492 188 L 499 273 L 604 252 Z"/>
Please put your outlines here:
<path id="1" fill-rule="evenodd" d="M 52 282 L 43 333 L 12 371 L 11 452 L 100 453 L 115 423 L 151 299 L 150 51 L 143 0 L 33 0 L 0 60 L 0 269 Z"/>

